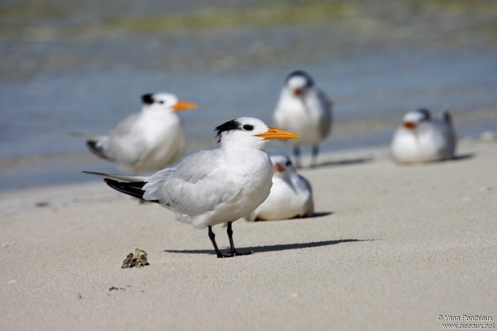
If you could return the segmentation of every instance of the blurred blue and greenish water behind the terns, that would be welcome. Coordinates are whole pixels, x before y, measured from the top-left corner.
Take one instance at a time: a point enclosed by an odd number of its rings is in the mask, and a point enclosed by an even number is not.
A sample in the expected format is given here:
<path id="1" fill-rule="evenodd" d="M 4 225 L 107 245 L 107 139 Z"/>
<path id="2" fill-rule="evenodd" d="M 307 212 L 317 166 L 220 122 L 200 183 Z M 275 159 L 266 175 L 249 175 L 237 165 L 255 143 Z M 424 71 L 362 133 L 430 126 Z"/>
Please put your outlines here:
<path id="1" fill-rule="evenodd" d="M 461 136 L 497 131 L 497 1 L 2 0 L 0 190 L 115 172 L 70 132 L 106 133 L 170 91 L 188 153 L 215 126 L 270 123 L 285 76 L 335 102 L 325 151 L 388 144 L 402 115 L 449 109 Z M 270 151 L 286 151 L 272 144 Z"/>

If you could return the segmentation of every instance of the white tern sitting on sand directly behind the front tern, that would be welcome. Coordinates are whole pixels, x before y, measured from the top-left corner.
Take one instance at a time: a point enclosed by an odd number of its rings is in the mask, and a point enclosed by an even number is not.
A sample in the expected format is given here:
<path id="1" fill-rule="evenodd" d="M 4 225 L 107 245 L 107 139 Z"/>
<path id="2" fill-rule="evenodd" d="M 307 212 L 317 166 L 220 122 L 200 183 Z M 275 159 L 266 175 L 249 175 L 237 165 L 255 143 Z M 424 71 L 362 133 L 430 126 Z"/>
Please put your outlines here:
<path id="1" fill-rule="evenodd" d="M 248 214 L 248 221 L 309 217 L 314 214 L 311 184 L 286 155 L 271 155 L 273 186 L 269 197 Z"/>

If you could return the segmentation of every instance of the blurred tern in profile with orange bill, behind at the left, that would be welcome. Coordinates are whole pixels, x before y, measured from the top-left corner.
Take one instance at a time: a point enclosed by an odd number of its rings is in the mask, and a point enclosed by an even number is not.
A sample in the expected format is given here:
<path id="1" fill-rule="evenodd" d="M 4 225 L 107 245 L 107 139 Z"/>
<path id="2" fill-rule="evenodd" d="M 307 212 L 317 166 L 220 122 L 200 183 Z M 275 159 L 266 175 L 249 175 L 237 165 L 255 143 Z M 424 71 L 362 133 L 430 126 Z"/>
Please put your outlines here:
<path id="1" fill-rule="evenodd" d="M 122 171 L 136 174 L 163 169 L 179 160 L 185 148 L 176 112 L 197 106 L 168 93 L 144 94 L 142 102 L 142 111 L 122 120 L 109 135 L 73 135 L 86 139 L 93 154 L 115 162 Z"/>

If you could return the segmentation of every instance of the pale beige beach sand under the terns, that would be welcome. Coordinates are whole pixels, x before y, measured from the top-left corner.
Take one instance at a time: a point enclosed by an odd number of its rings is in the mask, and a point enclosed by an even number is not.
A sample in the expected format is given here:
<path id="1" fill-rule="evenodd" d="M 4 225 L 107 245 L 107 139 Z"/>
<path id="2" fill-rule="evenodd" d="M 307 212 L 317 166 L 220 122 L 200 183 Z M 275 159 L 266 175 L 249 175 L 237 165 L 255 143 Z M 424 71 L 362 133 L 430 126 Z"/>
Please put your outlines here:
<path id="1" fill-rule="evenodd" d="M 317 215 L 236 222 L 235 244 L 254 254 L 232 259 L 216 259 L 206 230 L 103 182 L 4 192 L 0 330 L 442 330 L 450 322 L 438 315 L 496 320 L 497 143 L 467 139 L 459 155 L 417 166 L 394 164 L 386 148 L 323 155 L 302 171 Z M 121 269 L 136 248 L 150 265 Z"/>

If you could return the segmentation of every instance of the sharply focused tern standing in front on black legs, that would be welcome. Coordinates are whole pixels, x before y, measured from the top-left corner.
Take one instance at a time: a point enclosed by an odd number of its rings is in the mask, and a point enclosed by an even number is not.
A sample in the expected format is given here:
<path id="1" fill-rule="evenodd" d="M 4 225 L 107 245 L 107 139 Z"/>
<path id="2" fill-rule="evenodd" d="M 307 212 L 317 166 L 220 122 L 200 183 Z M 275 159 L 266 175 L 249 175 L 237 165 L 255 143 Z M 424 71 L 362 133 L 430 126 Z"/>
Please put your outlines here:
<path id="1" fill-rule="evenodd" d="M 253 211 L 269 195 L 272 164 L 262 148 L 268 139 L 299 136 L 267 127 L 251 117 L 226 122 L 215 131 L 221 148 L 196 152 L 152 176 L 89 174 L 104 177 L 117 191 L 158 202 L 172 210 L 178 221 L 196 228 L 208 227 L 218 258 L 250 254 L 235 250 L 231 223 Z M 228 227 L 227 255 L 219 251 L 212 232 L 212 226 L 220 223 Z"/>

